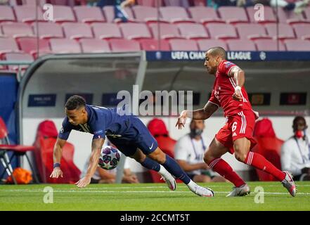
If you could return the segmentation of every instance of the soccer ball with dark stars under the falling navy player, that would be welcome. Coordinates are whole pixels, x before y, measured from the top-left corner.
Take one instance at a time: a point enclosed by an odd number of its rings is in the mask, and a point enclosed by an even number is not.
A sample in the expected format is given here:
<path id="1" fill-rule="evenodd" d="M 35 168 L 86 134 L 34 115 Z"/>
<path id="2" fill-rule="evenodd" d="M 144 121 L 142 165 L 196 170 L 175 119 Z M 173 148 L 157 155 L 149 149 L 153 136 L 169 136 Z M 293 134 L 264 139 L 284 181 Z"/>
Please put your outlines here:
<path id="1" fill-rule="evenodd" d="M 114 169 L 120 162 L 120 151 L 112 146 L 101 149 L 98 166 L 103 169 Z"/>

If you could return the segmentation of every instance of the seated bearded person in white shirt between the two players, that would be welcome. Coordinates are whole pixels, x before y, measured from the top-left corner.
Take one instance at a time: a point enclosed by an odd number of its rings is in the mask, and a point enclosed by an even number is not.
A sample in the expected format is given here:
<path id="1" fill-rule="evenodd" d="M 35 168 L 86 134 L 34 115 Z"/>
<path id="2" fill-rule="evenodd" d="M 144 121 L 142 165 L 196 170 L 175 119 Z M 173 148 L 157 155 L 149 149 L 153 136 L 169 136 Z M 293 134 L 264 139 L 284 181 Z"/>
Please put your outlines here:
<path id="1" fill-rule="evenodd" d="M 205 150 L 211 143 L 210 139 L 202 138 L 201 134 L 204 129 L 204 120 L 191 120 L 190 133 L 176 142 L 174 158 L 195 182 L 226 181 L 221 176 L 215 176 L 216 173 L 203 162 Z"/>

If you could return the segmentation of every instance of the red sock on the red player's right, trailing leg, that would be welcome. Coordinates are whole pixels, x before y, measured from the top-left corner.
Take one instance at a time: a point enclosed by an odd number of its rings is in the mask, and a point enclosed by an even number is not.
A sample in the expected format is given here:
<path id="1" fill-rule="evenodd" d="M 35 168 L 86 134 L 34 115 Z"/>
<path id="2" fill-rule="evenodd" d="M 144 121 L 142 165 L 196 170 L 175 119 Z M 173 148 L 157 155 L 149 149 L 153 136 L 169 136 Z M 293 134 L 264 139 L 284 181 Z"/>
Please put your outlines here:
<path id="1" fill-rule="evenodd" d="M 280 169 L 275 167 L 271 162 L 266 160 L 264 156 L 258 153 L 253 152 L 247 153 L 245 163 L 249 166 L 251 165 L 257 169 L 261 169 L 262 171 L 273 175 L 274 177 L 276 177 L 276 179 L 278 179 L 278 181 L 283 181 L 283 179 L 285 178 L 284 172 L 280 171 Z"/>

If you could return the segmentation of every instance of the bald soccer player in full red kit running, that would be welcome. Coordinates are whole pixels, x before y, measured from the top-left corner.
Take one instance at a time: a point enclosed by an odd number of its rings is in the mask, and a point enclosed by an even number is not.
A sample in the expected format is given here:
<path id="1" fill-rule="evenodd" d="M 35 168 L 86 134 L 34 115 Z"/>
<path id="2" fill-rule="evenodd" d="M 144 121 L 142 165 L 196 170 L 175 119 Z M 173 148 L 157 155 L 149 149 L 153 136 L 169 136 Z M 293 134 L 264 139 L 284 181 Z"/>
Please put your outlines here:
<path id="1" fill-rule="evenodd" d="M 234 184 L 233 191 L 227 196 L 243 196 L 250 193 L 245 181 L 236 174 L 230 165 L 221 159 L 221 155 L 235 153 L 235 158 L 247 165 L 272 174 L 292 196 L 296 195 L 296 186 L 289 172 L 282 172 L 263 155 L 250 151 L 256 144 L 252 137 L 258 113 L 252 110 L 247 91 L 245 90 L 245 72 L 238 65 L 226 60 L 226 51 L 221 47 L 209 49 L 205 54 L 205 67 L 209 74 L 216 77 L 212 95 L 204 108 L 184 110 L 176 126 L 184 127 L 186 118 L 206 120 L 219 107 L 223 108 L 226 124 L 216 134 L 204 160 L 214 171 Z"/>

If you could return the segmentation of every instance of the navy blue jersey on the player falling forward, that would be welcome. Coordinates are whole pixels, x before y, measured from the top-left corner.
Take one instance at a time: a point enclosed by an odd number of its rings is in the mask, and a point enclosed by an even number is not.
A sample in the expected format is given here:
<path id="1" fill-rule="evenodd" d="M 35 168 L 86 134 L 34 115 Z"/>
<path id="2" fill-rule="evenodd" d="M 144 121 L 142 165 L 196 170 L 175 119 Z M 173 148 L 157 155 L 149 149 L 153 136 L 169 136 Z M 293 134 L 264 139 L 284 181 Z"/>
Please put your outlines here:
<path id="1" fill-rule="evenodd" d="M 122 136 L 130 127 L 129 117 L 133 115 L 119 115 L 117 108 L 104 108 L 95 105 L 86 105 L 88 120 L 86 124 L 77 126 L 70 124 L 65 117 L 63 127 L 58 137 L 67 140 L 72 129 L 93 134 L 93 139 L 105 138 L 108 136 Z"/>

